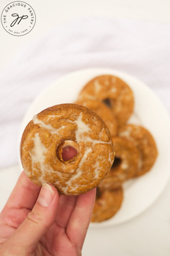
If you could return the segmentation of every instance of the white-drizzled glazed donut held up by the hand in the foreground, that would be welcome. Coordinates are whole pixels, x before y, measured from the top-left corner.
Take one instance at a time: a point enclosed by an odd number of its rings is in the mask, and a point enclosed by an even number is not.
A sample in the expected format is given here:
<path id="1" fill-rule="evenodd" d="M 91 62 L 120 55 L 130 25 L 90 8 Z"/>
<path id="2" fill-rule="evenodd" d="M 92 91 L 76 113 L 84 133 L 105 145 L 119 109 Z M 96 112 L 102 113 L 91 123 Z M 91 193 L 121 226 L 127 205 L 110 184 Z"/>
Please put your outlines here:
<path id="1" fill-rule="evenodd" d="M 77 143 L 79 153 L 62 158 L 65 141 Z M 56 153 L 57 152 L 57 153 Z M 60 104 L 35 115 L 20 143 L 23 169 L 35 184 L 53 184 L 59 194 L 79 195 L 98 186 L 114 161 L 113 142 L 103 120 L 77 104 Z"/>

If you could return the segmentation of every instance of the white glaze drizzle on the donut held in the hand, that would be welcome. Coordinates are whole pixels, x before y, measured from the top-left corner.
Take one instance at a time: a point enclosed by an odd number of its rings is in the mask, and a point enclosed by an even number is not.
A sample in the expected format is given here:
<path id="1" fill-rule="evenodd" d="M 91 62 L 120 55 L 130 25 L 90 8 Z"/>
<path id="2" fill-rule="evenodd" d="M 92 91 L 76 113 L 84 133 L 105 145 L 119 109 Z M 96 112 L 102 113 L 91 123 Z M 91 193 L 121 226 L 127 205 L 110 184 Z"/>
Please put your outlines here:
<path id="1" fill-rule="evenodd" d="M 58 115 L 58 116 L 61 116 L 61 115 Z M 48 116 L 48 119 L 51 119 L 51 118 L 55 118 L 55 117 L 58 117 L 57 115 L 49 115 Z M 51 124 L 45 124 L 42 120 L 39 120 L 37 115 L 34 115 L 33 117 L 33 122 L 34 124 L 38 124 L 40 127 L 43 127 L 45 129 L 48 130 L 48 132 L 50 132 L 51 134 L 57 134 L 59 130 L 61 129 L 64 129 L 65 126 L 61 126 L 59 127 L 58 129 L 55 129 L 54 127 L 51 126 Z M 104 143 L 104 144 L 111 144 L 112 142 L 104 142 L 102 140 L 94 140 L 92 138 L 90 138 L 88 136 L 88 132 L 90 131 L 90 127 L 88 124 L 84 123 L 82 121 L 82 113 L 79 114 L 79 116 L 77 117 L 77 119 L 75 121 L 71 121 L 70 119 L 67 119 L 66 122 L 69 122 L 69 123 L 75 123 L 77 125 L 77 129 L 75 131 L 75 137 L 76 137 L 76 142 L 79 143 L 80 141 L 83 141 L 83 142 L 92 142 L 92 146 L 90 148 L 87 148 L 84 152 L 84 155 L 82 156 L 81 158 L 81 161 L 79 162 L 79 166 L 76 170 L 72 170 L 72 172 L 70 171 L 68 175 L 65 176 L 66 180 L 67 180 L 67 177 L 70 175 L 70 173 L 73 173 L 75 172 L 75 174 L 73 174 L 73 176 L 67 181 L 65 182 L 66 184 L 66 187 L 63 187 L 60 185 L 60 183 L 56 180 L 56 185 L 58 186 L 58 188 L 60 188 L 65 194 L 68 194 L 69 193 L 67 192 L 68 189 L 69 189 L 69 192 L 70 191 L 75 191 L 77 187 L 79 187 L 80 185 L 72 185 L 72 181 L 79 178 L 81 175 L 82 175 L 82 172 L 83 172 L 83 169 L 81 169 L 83 163 L 86 161 L 87 157 L 88 157 L 88 154 L 90 152 L 92 152 L 92 148 L 94 146 L 94 144 L 96 143 Z M 102 131 L 103 131 L 104 127 L 102 128 Z M 100 132 L 100 137 L 102 135 L 102 131 Z M 84 135 L 84 133 L 86 133 Z M 47 152 L 47 148 L 43 145 L 43 143 L 41 142 L 40 140 L 40 137 L 39 137 L 39 133 L 35 133 L 34 134 L 35 137 L 32 138 L 32 140 L 34 141 L 34 148 L 29 152 L 30 154 L 30 157 L 31 157 L 31 160 L 32 160 L 32 169 L 34 170 L 34 163 L 39 163 L 39 166 L 40 166 L 40 169 L 41 169 L 41 172 L 42 172 L 42 175 L 41 177 L 39 177 L 39 181 L 41 182 L 41 184 L 45 183 L 46 181 L 44 180 L 45 177 L 45 172 L 52 172 L 52 173 L 56 173 L 59 177 L 62 178 L 62 174 L 60 172 L 56 172 L 54 171 L 51 166 L 47 165 L 44 163 L 44 160 L 45 160 L 45 154 Z M 109 157 L 108 157 L 108 161 L 112 164 L 112 161 L 111 161 L 111 154 L 113 154 L 113 152 L 109 152 Z M 95 173 L 95 176 L 94 176 L 94 179 L 96 179 L 99 175 L 99 172 L 100 170 L 102 169 L 102 167 L 99 166 L 99 162 L 98 162 L 99 158 L 96 159 L 96 162 L 95 162 L 95 165 L 93 166 L 95 168 L 94 170 L 94 173 Z M 64 166 L 63 166 L 64 167 Z M 86 186 L 86 185 L 84 185 Z"/>

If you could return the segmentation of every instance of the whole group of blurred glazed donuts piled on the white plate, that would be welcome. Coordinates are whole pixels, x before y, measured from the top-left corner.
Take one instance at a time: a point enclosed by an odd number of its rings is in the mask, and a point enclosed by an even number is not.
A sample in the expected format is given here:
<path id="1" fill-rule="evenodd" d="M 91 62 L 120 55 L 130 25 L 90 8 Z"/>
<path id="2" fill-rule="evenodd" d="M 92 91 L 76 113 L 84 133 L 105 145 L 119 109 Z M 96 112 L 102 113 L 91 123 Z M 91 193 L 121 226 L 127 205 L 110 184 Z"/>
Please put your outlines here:
<path id="1" fill-rule="evenodd" d="M 93 78 L 80 91 L 76 104 L 86 106 L 106 123 L 113 140 L 115 159 L 98 185 L 92 222 L 111 218 L 123 201 L 122 184 L 147 173 L 157 157 L 154 139 L 144 127 L 127 123 L 133 113 L 132 90 L 118 77 Z"/>

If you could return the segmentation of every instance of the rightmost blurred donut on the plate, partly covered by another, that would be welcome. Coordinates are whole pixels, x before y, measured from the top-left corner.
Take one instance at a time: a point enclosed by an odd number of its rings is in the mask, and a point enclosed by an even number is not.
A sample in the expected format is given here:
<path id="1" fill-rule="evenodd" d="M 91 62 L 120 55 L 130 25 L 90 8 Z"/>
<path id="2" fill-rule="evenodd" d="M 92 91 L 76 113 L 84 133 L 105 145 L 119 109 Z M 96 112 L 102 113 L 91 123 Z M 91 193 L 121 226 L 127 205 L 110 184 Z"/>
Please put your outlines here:
<path id="1" fill-rule="evenodd" d="M 120 127 L 119 136 L 125 137 L 132 141 L 139 149 L 140 161 L 138 164 L 136 177 L 148 172 L 157 157 L 156 144 L 150 132 L 142 126 L 126 124 Z"/>

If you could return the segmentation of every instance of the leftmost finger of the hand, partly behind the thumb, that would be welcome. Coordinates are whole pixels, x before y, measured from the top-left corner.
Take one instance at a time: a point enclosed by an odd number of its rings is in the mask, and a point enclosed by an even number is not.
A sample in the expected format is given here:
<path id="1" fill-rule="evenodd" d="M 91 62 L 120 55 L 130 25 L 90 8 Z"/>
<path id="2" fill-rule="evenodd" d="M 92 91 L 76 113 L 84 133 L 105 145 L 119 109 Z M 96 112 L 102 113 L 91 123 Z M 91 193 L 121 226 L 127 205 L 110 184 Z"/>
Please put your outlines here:
<path id="1" fill-rule="evenodd" d="M 32 207 L 34 206 L 37 200 L 40 188 L 41 187 L 31 182 L 31 180 L 27 177 L 27 175 L 23 171 L 5 207 L 27 208 L 29 210 L 32 210 Z"/>

